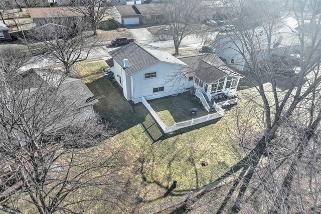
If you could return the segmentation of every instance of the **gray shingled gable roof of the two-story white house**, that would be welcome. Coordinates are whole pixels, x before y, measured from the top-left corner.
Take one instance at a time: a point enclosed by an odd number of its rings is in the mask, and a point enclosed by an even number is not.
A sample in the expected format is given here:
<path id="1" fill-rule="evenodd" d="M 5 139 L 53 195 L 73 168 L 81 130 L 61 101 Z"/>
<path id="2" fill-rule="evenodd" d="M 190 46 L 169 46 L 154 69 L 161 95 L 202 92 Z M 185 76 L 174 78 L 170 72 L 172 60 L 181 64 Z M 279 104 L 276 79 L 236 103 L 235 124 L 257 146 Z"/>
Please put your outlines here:
<path id="1" fill-rule="evenodd" d="M 124 59 L 128 59 L 128 67 L 123 68 L 128 75 L 141 71 L 158 62 L 187 66 L 181 60 L 158 47 L 136 42 L 112 50 L 109 54 L 120 66 L 123 66 Z"/>

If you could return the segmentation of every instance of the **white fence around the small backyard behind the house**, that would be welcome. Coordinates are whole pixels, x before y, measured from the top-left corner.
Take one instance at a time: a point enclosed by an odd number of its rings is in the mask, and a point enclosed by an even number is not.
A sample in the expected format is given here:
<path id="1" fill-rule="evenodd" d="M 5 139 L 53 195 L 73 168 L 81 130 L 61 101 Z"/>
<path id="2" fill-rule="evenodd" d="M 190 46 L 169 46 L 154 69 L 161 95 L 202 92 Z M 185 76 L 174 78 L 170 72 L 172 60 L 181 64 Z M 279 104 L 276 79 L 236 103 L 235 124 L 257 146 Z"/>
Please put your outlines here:
<path id="1" fill-rule="evenodd" d="M 191 120 L 185 120 L 182 122 L 178 122 L 178 123 L 174 123 L 174 125 L 172 126 L 167 126 L 165 125 L 165 123 L 161 120 L 161 118 L 158 117 L 157 113 L 151 108 L 151 106 L 149 105 L 149 103 L 146 101 L 146 99 L 141 96 L 141 102 L 144 104 L 144 106 L 148 109 L 149 113 L 153 116 L 153 118 L 156 120 L 156 122 L 158 123 L 159 126 L 161 126 L 161 128 L 163 129 L 164 133 L 170 133 L 173 131 L 176 131 L 178 129 L 181 128 L 186 128 L 189 126 L 193 126 L 193 125 L 197 125 L 200 123 L 204 123 L 206 121 L 209 120 L 214 120 L 220 117 L 224 116 L 224 112 L 225 110 L 222 109 L 219 105 L 214 105 L 215 110 L 217 112 L 212 113 L 212 114 L 208 114 L 202 117 L 198 117 L 198 118 L 193 118 Z"/>

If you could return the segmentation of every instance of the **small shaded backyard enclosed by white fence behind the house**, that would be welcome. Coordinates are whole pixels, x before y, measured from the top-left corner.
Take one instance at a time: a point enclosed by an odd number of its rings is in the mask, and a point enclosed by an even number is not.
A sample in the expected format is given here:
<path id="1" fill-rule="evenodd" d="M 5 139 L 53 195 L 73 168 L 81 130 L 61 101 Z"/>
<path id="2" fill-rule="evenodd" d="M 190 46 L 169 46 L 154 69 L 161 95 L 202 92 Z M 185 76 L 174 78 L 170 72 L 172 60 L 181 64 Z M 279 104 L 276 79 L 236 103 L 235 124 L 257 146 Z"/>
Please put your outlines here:
<path id="1" fill-rule="evenodd" d="M 217 105 L 215 108 L 216 111 L 209 113 L 203 110 L 202 106 L 198 103 L 190 102 L 190 100 L 187 99 L 188 97 L 193 96 L 190 96 L 187 92 L 174 97 L 150 101 L 150 103 L 148 103 L 144 97 L 141 97 L 141 100 L 158 125 L 163 129 L 164 133 L 171 133 L 178 129 L 197 125 L 224 116 L 224 109 L 220 106 Z M 164 108 L 159 108 L 159 106 Z M 198 113 L 191 114 L 190 109 L 195 107 L 198 107 Z"/>

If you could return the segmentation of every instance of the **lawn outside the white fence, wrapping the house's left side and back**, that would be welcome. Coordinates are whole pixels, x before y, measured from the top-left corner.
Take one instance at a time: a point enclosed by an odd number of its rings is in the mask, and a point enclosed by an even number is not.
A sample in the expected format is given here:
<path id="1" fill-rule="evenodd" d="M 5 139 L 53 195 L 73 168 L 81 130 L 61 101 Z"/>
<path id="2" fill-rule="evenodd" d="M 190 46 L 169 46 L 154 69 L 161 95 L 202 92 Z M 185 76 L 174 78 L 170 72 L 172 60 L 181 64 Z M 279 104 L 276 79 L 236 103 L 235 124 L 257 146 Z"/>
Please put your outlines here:
<path id="1" fill-rule="evenodd" d="M 129 161 L 127 187 L 132 192 L 126 195 L 126 210 L 119 212 L 137 212 L 213 182 L 245 156 L 236 140 L 236 117 L 246 119 L 251 110 L 245 100 L 216 122 L 164 136 L 142 104 L 132 107 L 117 83 L 101 74 L 103 66 L 100 62 L 79 65 L 78 76 L 99 100 L 95 111 L 118 130 L 110 143 L 124 149 Z M 202 161 L 208 166 L 202 167 Z M 164 197 L 174 179 L 178 187 Z"/>

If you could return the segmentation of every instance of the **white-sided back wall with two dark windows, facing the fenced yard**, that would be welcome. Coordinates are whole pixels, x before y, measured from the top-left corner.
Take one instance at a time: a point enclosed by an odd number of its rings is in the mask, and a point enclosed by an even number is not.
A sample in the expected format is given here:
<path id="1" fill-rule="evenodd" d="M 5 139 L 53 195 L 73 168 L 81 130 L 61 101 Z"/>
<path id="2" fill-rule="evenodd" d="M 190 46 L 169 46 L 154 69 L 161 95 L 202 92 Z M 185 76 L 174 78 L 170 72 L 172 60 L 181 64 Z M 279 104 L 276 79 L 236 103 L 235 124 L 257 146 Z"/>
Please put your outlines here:
<path id="1" fill-rule="evenodd" d="M 159 62 L 133 74 L 134 103 L 179 94 L 185 91 L 186 78 L 181 74 L 181 65 Z M 144 79 L 145 73 L 156 72 L 155 78 Z M 164 91 L 153 93 L 153 88 L 164 86 Z"/>

